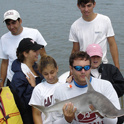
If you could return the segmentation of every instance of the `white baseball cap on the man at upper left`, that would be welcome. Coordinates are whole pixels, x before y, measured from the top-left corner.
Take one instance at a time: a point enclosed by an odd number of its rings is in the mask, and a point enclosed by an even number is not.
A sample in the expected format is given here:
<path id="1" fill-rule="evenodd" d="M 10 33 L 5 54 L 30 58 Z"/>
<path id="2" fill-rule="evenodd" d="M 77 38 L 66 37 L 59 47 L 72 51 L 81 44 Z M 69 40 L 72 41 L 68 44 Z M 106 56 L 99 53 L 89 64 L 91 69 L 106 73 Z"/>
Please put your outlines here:
<path id="1" fill-rule="evenodd" d="M 12 19 L 16 21 L 18 18 L 20 18 L 20 14 L 16 10 L 8 10 L 4 13 L 3 22 L 7 19 Z"/>

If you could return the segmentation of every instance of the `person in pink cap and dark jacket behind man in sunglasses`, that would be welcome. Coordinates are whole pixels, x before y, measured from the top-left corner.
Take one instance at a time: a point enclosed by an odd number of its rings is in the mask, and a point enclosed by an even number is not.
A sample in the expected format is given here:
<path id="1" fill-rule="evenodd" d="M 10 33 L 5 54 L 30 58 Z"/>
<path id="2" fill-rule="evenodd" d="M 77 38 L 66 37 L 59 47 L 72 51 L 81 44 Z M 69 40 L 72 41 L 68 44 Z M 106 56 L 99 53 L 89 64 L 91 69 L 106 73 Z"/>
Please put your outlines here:
<path id="1" fill-rule="evenodd" d="M 91 75 L 110 81 L 118 97 L 122 97 L 124 94 L 124 78 L 119 69 L 112 64 L 101 64 L 103 53 L 98 44 L 89 45 L 86 52 L 91 57 Z M 119 117 L 117 124 L 122 124 L 123 122 L 124 117 Z"/>

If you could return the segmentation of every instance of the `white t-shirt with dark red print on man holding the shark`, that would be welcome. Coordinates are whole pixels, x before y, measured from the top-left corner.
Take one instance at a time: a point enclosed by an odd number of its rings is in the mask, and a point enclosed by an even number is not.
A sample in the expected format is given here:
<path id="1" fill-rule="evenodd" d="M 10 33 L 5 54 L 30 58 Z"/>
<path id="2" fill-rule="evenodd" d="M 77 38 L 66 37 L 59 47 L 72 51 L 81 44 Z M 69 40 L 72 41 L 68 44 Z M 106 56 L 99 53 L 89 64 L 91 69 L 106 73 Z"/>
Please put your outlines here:
<path id="1" fill-rule="evenodd" d="M 59 87 L 57 87 L 53 94 L 53 98 L 63 101 L 63 100 L 73 98 L 75 96 L 78 96 L 78 95 L 81 95 L 87 92 L 87 87 L 79 88 L 75 86 L 74 81 L 71 82 L 71 85 L 72 85 L 72 88 L 68 88 L 68 83 L 62 84 Z M 102 80 L 102 79 L 96 79 L 92 77 L 91 85 L 97 92 L 102 93 L 104 96 L 106 96 L 114 104 L 116 108 L 120 109 L 120 103 L 118 100 L 118 96 L 109 81 Z M 63 122 L 64 124 L 67 123 L 65 122 L 63 115 L 59 115 L 59 113 L 56 115 L 58 115 L 58 117 L 56 116 L 56 118 L 54 119 L 56 120 L 58 124 L 63 124 Z M 71 124 L 116 124 L 117 123 L 117 118 L 101 119 L 95 113 L 90 113 L 90 112 L 87 112 L 84 115 L 80 114 L 75 118 L 78 120 L 73 120 Z"/>

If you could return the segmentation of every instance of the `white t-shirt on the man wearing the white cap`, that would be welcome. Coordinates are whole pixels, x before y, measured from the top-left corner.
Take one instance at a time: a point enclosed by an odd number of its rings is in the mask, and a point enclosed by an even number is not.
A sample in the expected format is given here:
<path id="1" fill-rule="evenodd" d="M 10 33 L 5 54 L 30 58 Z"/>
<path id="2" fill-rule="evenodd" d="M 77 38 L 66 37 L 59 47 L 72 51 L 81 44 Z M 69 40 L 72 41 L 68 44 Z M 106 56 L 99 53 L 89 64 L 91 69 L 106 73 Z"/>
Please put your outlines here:
<path id="1" fill-rule="evenodd" d="M 8 70 L 7 70 L 7 78 L 11 81 L 13 72 L 11 70 L 12 62 L 17 58 L 16 57 L 16 49 L 23 38 L 32 38 L 38 44 L 46 46 L 47 43 L 40 34 L 37 29 L 23 27 L 23 31 L 19 35 L 12 35 L 9 31 L 1 37 L 0 42 L 0 58 L 8 59 Z"/>

